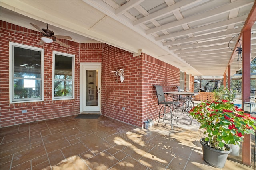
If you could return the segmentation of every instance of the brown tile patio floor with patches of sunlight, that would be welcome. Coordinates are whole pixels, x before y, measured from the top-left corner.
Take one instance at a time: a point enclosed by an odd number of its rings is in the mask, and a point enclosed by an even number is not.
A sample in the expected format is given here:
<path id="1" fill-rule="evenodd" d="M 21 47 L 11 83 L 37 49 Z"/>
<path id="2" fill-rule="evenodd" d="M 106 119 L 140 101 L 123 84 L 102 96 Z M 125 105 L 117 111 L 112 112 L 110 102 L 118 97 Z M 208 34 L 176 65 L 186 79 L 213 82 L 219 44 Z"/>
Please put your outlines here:
<path id="1" fill-rule="evenodd" d="M 140 129 L 102 115 L 5 127 L 0 131 L 0 169 L 217 170 L 202 158 L 198 124 L 178 116 L 173 130 L 167 121 Z M 240 160 L 229 156 L 223 170 L 252 170 Z"/>

